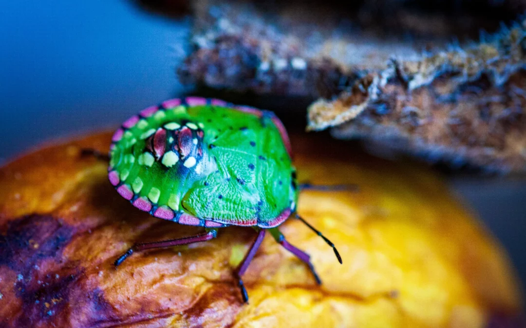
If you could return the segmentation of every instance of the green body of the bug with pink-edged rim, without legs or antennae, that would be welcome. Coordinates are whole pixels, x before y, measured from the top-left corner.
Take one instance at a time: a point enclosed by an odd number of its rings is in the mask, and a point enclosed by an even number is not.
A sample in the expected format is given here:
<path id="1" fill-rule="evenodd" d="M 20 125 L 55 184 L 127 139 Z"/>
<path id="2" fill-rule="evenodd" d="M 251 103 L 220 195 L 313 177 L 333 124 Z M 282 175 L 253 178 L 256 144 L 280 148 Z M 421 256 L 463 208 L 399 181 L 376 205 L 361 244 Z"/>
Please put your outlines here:
<path id="1" fill-rule="evenodd" d="M 293 172 L 277 117 L 190 97 L 125 121 L 113 137 L 108 177 L 121 196 L 159 218 L 270 228 L 295 209 Z"/>

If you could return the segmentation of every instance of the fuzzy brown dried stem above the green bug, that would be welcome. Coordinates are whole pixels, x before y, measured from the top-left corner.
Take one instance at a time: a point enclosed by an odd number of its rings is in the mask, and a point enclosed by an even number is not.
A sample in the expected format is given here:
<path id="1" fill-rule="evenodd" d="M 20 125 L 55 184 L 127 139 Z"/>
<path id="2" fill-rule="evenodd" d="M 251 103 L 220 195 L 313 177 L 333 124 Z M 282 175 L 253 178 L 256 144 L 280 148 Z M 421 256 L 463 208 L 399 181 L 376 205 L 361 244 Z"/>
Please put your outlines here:
<path id="1" fill-rule="evenodd" d="M 318 99 L 308 129 L 335 127 L 341 139 L 523 172 L 525 23 L 496 26 L 525 4 L 372 3 L 198 1 L 195 50 L 179 76 L 218 89 Z M 479 28 L 496 32 L 469 43 Z"/>

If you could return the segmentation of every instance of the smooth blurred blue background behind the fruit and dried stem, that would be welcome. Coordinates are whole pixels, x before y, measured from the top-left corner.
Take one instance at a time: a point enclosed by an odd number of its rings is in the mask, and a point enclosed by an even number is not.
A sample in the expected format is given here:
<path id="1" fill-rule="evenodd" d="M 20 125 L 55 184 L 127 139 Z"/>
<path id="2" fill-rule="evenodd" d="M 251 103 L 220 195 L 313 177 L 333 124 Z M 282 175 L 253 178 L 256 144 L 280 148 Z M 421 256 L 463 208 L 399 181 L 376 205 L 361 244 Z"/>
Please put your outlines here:
<path id="1" fill-rule="evenodd" d="M 189 17 L 121 0 L 4 1 L 0 6 L 0 163 L 44 141 L 113 128 L 184 92 Z M 526 281 L 526 181 L 451 177 Z"/>

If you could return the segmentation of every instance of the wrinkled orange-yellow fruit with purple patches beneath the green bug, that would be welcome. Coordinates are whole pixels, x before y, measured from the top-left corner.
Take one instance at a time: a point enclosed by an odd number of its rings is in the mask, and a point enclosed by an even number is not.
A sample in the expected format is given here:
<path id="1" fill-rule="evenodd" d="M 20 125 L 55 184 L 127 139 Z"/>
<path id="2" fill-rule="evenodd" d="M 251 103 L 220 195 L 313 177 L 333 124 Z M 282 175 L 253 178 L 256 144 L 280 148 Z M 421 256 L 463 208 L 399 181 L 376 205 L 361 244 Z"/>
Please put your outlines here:
<path id="1" fill-rule="evenodd" d="M 107 181 L 106 163 L 79 157 L 109 142 L 98 134 L 0 169 L 0 327 L 480 327 L 520 312 L 507 257 L 437 177 L 317 136 L 292 135 L 299 182 L 360 188 L 299 198 L 299 214 L 337 245 L 342 265 L 298 221 L 281 226 L 311 255 L 321 287 L 267 236 L 244 276 L 250 302 L 242 304 L 232 269 L 255 232 L 240 227 L 137 253 L 115 270 L 136 241 L 200 228 L 134 208 Z"/>

